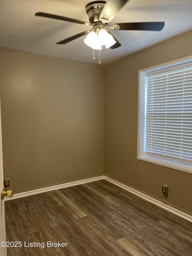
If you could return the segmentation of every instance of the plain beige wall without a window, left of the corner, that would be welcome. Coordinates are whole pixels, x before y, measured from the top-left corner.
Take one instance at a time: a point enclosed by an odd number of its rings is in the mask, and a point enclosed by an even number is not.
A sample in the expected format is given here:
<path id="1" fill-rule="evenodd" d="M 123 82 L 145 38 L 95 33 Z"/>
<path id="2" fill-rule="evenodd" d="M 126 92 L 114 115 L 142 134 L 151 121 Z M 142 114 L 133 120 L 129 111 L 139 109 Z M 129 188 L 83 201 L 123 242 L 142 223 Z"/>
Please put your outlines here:
<path id="1" fill-rule="evenodd" d="M 0 56 L 4 178 L 13 192 L 104 174 L 104 68 L 5 48 Z"/>

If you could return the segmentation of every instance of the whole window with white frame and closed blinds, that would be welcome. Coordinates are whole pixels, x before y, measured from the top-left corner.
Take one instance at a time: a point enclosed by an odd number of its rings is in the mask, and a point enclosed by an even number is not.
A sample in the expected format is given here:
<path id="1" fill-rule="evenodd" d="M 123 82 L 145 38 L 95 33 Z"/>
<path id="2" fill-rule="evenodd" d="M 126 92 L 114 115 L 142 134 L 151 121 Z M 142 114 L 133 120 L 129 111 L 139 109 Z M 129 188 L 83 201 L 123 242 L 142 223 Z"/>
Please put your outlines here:
<path id="1" fill-rule="evenodd" d="M 192 173 L 192 56 L 139 71 L 137 159 Z"/>

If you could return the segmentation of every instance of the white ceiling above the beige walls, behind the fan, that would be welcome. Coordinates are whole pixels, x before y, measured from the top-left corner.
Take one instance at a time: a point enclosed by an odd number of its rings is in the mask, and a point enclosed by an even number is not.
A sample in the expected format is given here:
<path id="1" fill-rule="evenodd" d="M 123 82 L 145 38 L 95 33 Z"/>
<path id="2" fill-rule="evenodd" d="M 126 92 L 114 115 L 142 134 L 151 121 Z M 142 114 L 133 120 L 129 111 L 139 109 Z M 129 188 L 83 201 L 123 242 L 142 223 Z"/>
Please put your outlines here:
<path id="1" fill-rule="evenodd" d="M 86 46 L 82 36 L 64 45 L 55 44 L 92 27 L 35 16 L 46 12 L 88 22 L 89 0 L 0 0 L 0 46 L 65 59 L 98 63 L 98 50 Z M 113 23 L 164 21 L 161 32 L 112 31 L 122 44 L 101 50 L 101 65 L 121 59 L 192 29 L 192 0 L 129 0 Z M 179 46 L 184 47 L 184 46 Z"/>

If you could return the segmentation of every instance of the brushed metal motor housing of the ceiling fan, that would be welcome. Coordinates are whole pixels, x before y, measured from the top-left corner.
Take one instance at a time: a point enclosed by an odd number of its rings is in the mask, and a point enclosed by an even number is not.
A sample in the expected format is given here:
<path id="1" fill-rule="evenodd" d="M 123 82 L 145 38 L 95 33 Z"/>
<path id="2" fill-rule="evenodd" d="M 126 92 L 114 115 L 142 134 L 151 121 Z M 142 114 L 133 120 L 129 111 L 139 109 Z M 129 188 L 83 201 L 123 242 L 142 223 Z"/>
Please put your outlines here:
<path id="1" fill-rule="evenodd" d="M 100 21 L 99 16 L 105 3 L 105 1 L 94 1 L 86 5 L 86 14 L 88 15 L 91 25 L 94 25 L 95 22 Z"/>

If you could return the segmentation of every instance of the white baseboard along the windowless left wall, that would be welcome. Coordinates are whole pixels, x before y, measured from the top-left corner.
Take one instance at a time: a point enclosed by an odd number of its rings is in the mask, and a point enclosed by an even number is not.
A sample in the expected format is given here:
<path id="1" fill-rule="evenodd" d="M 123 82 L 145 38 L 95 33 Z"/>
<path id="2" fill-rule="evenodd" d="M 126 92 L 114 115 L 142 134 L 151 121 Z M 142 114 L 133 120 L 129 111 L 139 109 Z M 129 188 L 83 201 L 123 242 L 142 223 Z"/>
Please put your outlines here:
<path id="1" fill-rule="evenodd" d="M 13 197 L 5 197 L 4 201 L 11 200 L 11 199 L 16 199 L 16 198 L 20 198 L 20 197 L 27 197 L 27 196 L 31 196 L 31 195 L 35 195 L 35 194 L 39 194 L 39 193 L 44 193 L 44 192 L 47 192 L 47 191 L 52 191 L 52 190 L 56 190 L 56 189 L 60 189 L 60 188 L 67 188 L 67 187 L 72 187 L 72 186 L 76 186 L 76 185 L 81 185 L 81 184 L 85 184 L 85 183 L 88 183 L 88 182 L 97 181 L 97 180 L 100 180 L 100 179 L 104 179 L 104 175 L 16 193 L 16 194 L 13 194 Z"/>

